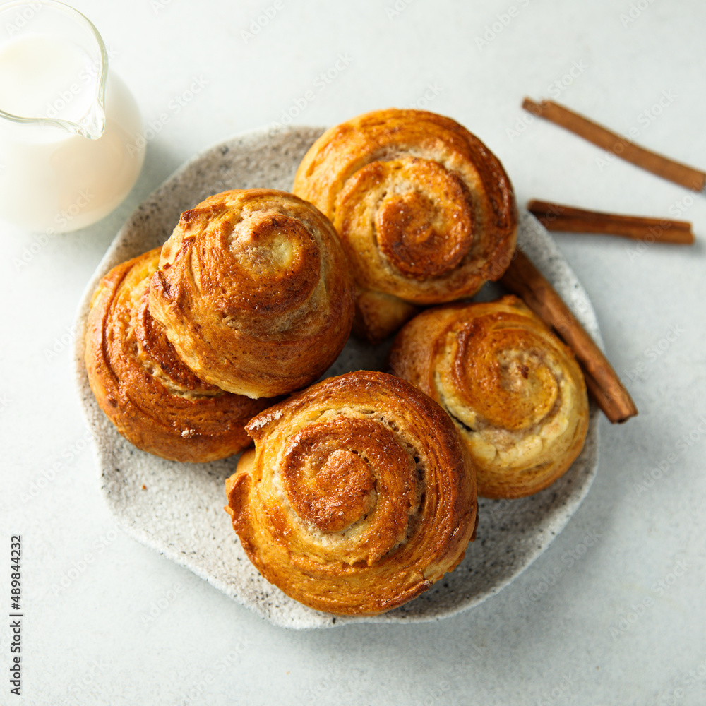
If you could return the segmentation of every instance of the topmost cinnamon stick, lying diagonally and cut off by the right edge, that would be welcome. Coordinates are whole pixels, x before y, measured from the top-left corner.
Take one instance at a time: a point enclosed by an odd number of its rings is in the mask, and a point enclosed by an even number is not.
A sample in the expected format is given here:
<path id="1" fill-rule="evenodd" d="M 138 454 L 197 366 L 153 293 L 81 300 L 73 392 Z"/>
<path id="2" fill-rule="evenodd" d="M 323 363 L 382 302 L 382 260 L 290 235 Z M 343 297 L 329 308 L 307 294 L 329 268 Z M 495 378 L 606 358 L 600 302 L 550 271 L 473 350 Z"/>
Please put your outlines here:
<path id="1" fill-rule="evenodd" d="M 532 99 L 525 98 L 522 107 L 540 118 L 566 128 L 604 150 L 613 152 L 621 160 L 632 162 L 652 174 L 657 174 L 658 177 L 669 179 L 669 181 L 674 181 L 676 184 L 681 184 L 681 186 L 686 186 L 687 189 L 694 191 L 702 191 L 706 185 L 706 172 L 700 172 L 698 169 L 670 160 L 656 152 L 650 152 L 650 150 L 631 142 L 628 138 L 624 138 L 551 100 L 535 103 Z"/>

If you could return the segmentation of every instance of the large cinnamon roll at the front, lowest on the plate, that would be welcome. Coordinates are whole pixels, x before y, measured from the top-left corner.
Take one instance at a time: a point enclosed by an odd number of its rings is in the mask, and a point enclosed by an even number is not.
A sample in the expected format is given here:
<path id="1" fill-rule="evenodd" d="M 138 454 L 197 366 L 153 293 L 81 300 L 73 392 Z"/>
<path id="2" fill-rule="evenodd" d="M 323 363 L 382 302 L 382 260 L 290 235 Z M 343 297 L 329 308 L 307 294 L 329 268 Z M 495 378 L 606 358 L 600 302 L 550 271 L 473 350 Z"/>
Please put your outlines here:
<path id="1" fill-rule="evenodd" d="M 234 530 L 287 595 L 376 614 L 453 570 L 474 532 L 472 462 L 448 416 L 409 383 L 359 371 L 255 417 L 226 481 Z"/>

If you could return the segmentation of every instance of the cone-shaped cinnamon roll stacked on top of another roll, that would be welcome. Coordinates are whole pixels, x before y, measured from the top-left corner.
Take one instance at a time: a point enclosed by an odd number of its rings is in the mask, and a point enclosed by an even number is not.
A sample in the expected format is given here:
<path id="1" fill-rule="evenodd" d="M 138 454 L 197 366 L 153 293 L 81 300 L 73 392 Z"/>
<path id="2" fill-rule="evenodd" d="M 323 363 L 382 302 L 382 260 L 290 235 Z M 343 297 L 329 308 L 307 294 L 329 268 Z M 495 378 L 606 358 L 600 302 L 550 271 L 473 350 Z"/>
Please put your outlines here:
<path id="1" fill-rule="evenodd" d="M 273 397 L 336 359 L 353 283 L 333 226 L 310 203 L 273 189 L 224 191 L 181 214 L 150 311 L 203 380 Z"/>

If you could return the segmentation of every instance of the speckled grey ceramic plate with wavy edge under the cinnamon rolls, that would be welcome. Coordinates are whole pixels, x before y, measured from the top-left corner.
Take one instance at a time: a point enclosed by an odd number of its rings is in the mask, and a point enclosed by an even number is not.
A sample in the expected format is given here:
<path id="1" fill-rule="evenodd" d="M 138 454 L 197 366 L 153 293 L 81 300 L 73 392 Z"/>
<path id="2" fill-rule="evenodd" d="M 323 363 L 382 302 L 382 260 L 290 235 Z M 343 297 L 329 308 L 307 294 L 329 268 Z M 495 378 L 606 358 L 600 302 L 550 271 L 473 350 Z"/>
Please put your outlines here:
<path id="1" fill-rule="evenodd" d="M 481 499 L 478 539 L 464 561 L 414 601 L 375 617 L 342 618 L 313 611 L 270 585 L 251 565 L 233 532 L 224 481 L 236 458 L 208 464 L 165 461 L 122 438 L 88 386 L 83 334 L 90 297 L 114 265 L 161 245 L 181 211 L 225 189 L 266 186 L 288 191 L 297 164 L 321 128 L 256 131 L 228 140 L 184 164 L 133 213 L 88 283 L 77 314 L 76 373 L 88 423 L 95 433 L 102 491 L 119 525 L 138 541 L 186 566 L 268 621 L 288 628 L 328 628 L 353 622 L 409 623 L 452 616 L 496 594 L 549 546 L 586 495 L 598 467 L 598 412 L 592 407 L 581 455 L 554 485 L 531 498 Z M 600 342 L 594 311 L 574 273 L 539 222 L 520 215 L 519 242 L 585 328 Z M 486 287 L 480 299 L 499 289 Z M 350 340 L 326 376 L 385 370 L 388 345 Z M 145 486 L 146 489 L 143 489 Z"/>

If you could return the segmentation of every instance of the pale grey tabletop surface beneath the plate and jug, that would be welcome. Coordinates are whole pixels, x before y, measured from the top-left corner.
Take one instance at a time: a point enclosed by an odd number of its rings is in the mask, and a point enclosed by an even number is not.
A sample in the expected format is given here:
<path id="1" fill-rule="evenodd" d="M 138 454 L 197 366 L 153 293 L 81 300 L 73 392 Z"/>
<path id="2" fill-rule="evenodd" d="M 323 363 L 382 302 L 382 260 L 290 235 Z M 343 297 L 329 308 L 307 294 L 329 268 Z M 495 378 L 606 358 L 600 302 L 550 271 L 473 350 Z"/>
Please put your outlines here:
<path id="1" fill-rule="evenodd" d="M 272 1 L 75 4 L 152 137 L 128 200 L 94 227 L 0 229 L 0 538 L 23 535 L 25 597 L 25 695 L 2 681 L 0 704 L 706 703 L 706 202 L 520 109 L 552 98 L 706 169 L 706 5 L 282 0 L 243 37 Z M 412 104 L 477 133 L 521 205 L 681 217 L 697 244 L 554 235 L 640 416 L 601 419 L 590 492 L 532 566 L 446 620 L 283 630 L 116 527 L 75 393 L 76 306 L 128 216 L 197 152 L 287 110 L 333 125 Z M 7 580 L 0 561 L 5 610 Z M 3 670 L 8 636 L 1 621 Z"/>

